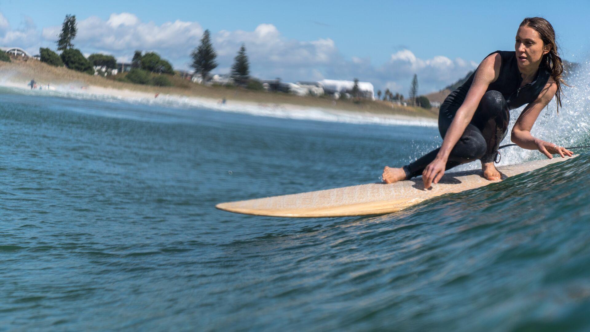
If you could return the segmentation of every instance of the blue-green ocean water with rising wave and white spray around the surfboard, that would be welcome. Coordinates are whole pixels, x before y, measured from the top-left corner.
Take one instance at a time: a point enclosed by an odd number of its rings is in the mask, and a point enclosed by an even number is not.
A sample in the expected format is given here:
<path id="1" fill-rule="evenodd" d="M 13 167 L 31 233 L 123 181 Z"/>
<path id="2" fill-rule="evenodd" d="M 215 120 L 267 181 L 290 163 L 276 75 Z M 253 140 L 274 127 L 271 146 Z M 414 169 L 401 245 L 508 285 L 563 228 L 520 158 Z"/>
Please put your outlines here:
<path id="1" fill-rule="evenodd" d="M 536 135 L 588 143 L 568 100 Z M 0 331 L 590 330 L 589 153 L 385 216 L 216 210 L 440 144 L 293 118 L 0 88 Z"/>

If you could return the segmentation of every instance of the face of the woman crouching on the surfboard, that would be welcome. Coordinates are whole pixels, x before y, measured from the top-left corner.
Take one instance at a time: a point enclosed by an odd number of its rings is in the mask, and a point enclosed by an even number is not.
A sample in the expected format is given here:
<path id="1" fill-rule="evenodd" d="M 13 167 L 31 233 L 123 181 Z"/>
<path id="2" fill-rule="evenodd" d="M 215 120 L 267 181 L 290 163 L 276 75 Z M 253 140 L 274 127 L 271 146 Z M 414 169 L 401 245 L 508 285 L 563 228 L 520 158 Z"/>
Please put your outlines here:
<path id="1" fill-rule="evenodd" d="M 539 32 L 527 26 L 519 27 L 516 31 L 516 61 L 518 66 L 525 68 L 531 64 L 538 64 L 544 54 L 549 53 L 550 45 L 543 45 Z"/>

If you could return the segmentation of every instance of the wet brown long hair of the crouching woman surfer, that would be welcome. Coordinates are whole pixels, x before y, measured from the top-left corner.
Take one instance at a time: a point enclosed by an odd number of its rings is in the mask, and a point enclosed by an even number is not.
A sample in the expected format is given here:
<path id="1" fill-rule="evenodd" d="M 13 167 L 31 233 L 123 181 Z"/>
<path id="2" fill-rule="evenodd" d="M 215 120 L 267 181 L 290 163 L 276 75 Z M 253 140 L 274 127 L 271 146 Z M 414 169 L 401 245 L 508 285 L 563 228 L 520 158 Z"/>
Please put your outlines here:
<path id="1" fill-rule="evenodd" d="M 557 103 L 557 112 L 559 113 L 559 108 L 561 107 L 561 95 L 563 90 L 561 89 L 561 84 L 565 84 L 563 81 L 563 61 L 559 57 L 559 51 L 557 42 L 555 41 L 555 30 L 553 30 L 553 26 L 547 21 L 545 18 L 542 17 L 527 17 L 522 20 L 519 27 L 529 27 L 533 30 L 537 31 L 543 41 L 543 47 L 545 45 L 551 45 L 551 49 L 549 53 L 543 55 L 541 59 L 541 65 L 545 66 L 546 69 L 549 70 L 551 73 L 551 77 L 557 84 L 557 91 L 555 92 L 555 101 Z M 568 84 L 565 84 L 569 86 Z"/>

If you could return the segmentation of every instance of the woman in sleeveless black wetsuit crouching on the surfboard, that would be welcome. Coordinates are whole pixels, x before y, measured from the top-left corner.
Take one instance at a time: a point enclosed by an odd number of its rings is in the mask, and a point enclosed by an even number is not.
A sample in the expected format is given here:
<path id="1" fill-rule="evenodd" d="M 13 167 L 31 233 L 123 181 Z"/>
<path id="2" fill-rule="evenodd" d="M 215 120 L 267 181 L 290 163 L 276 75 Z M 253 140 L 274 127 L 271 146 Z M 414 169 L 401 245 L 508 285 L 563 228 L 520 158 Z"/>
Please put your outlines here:
<path id="1" fill-rule="evenodd" d="M 510 109 L 528 104 L 512 129 L 512 142 L 553 158 L 572 151 L 530 134 L 539 113 L 556 96 L 561 106 L 563 64 L 555 31 L 544 18 L 525 18 L 516 32 L 514 51 L 495 51 L 481 61 L 467 82 L 448 95 L 438 113 L 442 146 L 404 167 L 385 167 L 383 181 L 394 183 L 422 175 L 424 187 L 438 183 L 445 170 L 480 160 L 487 180 L 500 180 L 494 166 L 506 136 Z"/>

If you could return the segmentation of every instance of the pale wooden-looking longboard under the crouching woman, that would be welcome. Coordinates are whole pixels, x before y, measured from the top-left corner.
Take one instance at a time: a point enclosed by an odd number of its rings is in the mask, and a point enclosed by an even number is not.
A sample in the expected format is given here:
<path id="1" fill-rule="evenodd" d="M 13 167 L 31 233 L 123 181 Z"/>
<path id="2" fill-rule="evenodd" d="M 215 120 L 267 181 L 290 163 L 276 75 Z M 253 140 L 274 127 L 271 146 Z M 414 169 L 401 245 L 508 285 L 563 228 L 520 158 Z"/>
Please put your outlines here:
<path id="1" fill-rule="evenodd" d="M 554 157 L 553 159 L 525 162 L 523 164 L 498 167 L 502 179 L 537 170 L 556 162 L 577 157 Z M 308 193 L 290 194 L 233 201 L 217 204 L 217 209 L 271 217 L 345 217 L 387 214 L 442 194 L 483 187 L 496 181 L 483 178 L 481 170 L 445 173 L 438 184 L 425 190 L 422 178 L 399 181 L 392 184 L 369 183 L 350 187 L 334 188 Z"/>

